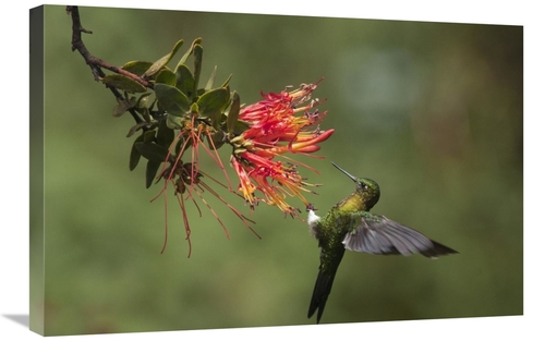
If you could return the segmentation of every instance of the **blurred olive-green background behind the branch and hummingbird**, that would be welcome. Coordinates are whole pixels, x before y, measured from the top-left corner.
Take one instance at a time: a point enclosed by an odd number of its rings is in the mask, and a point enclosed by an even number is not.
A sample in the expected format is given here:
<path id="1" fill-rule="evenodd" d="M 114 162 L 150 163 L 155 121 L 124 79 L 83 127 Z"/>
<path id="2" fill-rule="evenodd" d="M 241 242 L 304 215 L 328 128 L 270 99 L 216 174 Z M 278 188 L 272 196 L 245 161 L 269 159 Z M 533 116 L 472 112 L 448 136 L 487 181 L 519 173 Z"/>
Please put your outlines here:
<path id="1" fill-rule="evenodd" d="M 318 153 L 327 159 L 299 158 L 320 171 L 302 170 L 324 184 L 308 197 L 318 214 L 353 190 L 331 160 L 378 182 L 375 212 L 460 252 L 434 261 L 347 253 L 322 322 L 523 313 L 522 27 L 80 10 L 94 33 L 87 48 L 117 65 L 155 61 L 183 38 L 177 61 L 203 37 L 203 78 L 214 65 L 218 82 L 232 73 L 245 103 L 324 76 L 322 127 L 336 133 Z M 160 186 L 145 188 L 143 163 L 129 171 L 133 120 L 111 115 L 113 96 L 71 51 L 64 7 L 45 13 L 46 279 L 32 314 L 45 312 L 46 334 L 314 324 L 317 242 L 275 207 L 252 215 L 259 240 L 207 197 L 228 240 L 204 205 L 202 218 L 190 205 L 187 258 L 170 196 L 160 254 L 164 202 L 149 203 Z M 229 151 L 220 149 L 226 165 Z M 202 167 L 215 168 L 206 157 Z"/>

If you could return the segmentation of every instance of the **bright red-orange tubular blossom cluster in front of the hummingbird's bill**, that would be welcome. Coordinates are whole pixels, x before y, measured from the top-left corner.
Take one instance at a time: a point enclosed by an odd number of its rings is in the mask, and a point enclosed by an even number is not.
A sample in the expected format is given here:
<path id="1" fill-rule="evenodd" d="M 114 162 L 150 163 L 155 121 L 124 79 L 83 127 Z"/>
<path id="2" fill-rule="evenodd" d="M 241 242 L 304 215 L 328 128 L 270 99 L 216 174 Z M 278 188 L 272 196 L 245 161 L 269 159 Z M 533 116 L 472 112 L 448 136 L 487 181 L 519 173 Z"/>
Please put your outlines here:
<path id="1" fill-rule="evenodd" d="M 239 191 L 252 208 L 262 200 L 296 216 L 296 209 L 286 203 L 286 197 L 299 197 L 308 204 L 302 192 L 312 192 L 306 188 L 312 184 L 304 182 L 296 166 L 274 158 L 315 153 L 319 150 L 318 144 L 334 133 L 319 130 L 318 123 L 326 112 L 313 109 L 320 103 L 312 99 L 318 83 L 302 84 L 292 92 L 262 93 L 264 100 L 241 109 L 239 120 L 249 123 L 249 129 L 231 139 L 235 147 L 231 165 L 239 175 Z M 255 196 L 256 191 L 263 198 Z"/>

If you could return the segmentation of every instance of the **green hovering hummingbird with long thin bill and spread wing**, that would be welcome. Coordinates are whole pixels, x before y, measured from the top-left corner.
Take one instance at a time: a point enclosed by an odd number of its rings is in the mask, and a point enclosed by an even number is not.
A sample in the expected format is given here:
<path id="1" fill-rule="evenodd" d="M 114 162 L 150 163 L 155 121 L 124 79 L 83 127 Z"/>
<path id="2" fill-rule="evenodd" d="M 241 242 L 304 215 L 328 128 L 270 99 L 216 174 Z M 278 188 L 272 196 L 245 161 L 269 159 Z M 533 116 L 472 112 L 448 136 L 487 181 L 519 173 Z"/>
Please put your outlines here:
<path id="1" fill-rule="evenodd" d="M 355 178 L 331 162 L 338 170 L 355 183 L 355 191 L 335 205 L 325 218 L 315 214 L 315 207 L 308 204 L 307 223 L 310 232 L 318 240 L 318 277 L 314 285 L 307 317 L 318 310 L 316 322 L 319 324 L 331 292 L 335 275 L 346 249 L 374 255 L 422 254 L 437 258 L 457 254 L 450 247 L 429 240 L 424 234 L 385 216 L 370 212 L 380 197 L 378 184 L 366 178 Z"/>

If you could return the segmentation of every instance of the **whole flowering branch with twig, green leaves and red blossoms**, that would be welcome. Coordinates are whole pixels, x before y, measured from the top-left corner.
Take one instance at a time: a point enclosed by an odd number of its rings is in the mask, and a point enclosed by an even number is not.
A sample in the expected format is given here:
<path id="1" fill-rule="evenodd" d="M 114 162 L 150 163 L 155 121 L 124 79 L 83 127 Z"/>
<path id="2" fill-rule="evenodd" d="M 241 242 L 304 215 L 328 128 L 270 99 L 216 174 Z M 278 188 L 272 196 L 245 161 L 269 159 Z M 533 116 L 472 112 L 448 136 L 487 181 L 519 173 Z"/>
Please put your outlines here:
<path id="1" fill-rule="evenodd" d="M 74 27 L 81 28 L 77 7 L 71 7 L 70 12 L 73 14 Z M 298 167 L 317 171 L 290 155 L 311 155 L 319 150 L 318 145 L 334 133 L 334 130 L 319 130 L 326 112 L 317 110 L 320 101 L 312 98 L 319 81 L 302 84 L 296 89 L 286 88 L 279 94 L 262 94 L 263 100 L 241 106 L 239 94 L 230 88 L 231 76 L 219 87 L 214 85 L 216 69 L 206 85 L 199 87 L 202 38 L 193 40 L 174 68 L 168 64 L 183 45 L 183 39 L 178 40 L 170 52 L 155 62 L 132 60 L 121 68 L 100 59 L 95 60 L 98 62 L 90 61 L 92 56 L 81 39 L 76 40 L 78 47 L 74 48 L 81 50 L 82 56 L 85 54 L 84 59 L 89 65 L 93 64 L 95 78 L 116 95 L 118 106 L 113 109 L 113 115 L 121 117 L 130 112 L 134 118 L 135 124 L 128 137 L 141 132 L 131 147 L 129 169 L 134 170 L 144 161 L 146 187 L 154 182 L 162 182 L 162 188 L 152 199 L 159 196 L 165 198 L 162 251 L 168 240 L 169 187 L 173 190 L 182 212 L 190 254 L 187 204 L 196 208 L 198 216 L 203 216 L 201 207 L 204 205 L 229 238 L 226 226 L 208 203 L 210 196 L 215 202 L 226 205 L 255 233 L 251 227 L 255 222 L 223 198 L 221 192 L 216 191 L 218 186 L 222 187 L 220 191 L 227 191 L 249 203 L 251 211 L 259 202 L 264 202 L 277 206 L 286 215 L 298 216 L 299 209 L 287 203 L 288 197 L 299 198 L 308 206 L 304 194 L 313 193 L 308 187 L 316 185 L 307 183 Z M 190 57 L 192 63 L 187 62 Z M 104 73 L 101 68 L 111 73 Z M 238 175 L 238 191 L 231 185 L 218 153 L 221 146 L 233 148 L 230 163 Z M 207 155 L 221 170 L 226 182 L 213 178 L 214 173 L 203 171 L 203 150 L 205 157 Z"/>

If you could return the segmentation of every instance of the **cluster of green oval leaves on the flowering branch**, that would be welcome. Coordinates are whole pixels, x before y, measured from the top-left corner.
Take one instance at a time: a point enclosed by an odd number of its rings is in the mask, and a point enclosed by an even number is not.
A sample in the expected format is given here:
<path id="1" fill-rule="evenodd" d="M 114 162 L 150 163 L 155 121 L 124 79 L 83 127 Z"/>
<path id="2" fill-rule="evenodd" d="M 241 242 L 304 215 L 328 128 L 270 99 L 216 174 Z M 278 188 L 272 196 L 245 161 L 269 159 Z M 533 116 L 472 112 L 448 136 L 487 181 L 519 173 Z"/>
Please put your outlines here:
<path id="1" fill-rule="evenodd" d="M 184 138 L 194 133 L 192 130 L 196 126 L 205 126 L 207 133 L 198 135 L 198 138 L 207 138 L 210 148 L 215 149 L 247 127 L 239 120 L 241 100 L 239 94 L 229 87 L 231 76 L 215 87 L 215 68 L 205 86 L 198 86 L 203 69 L 201 42 L 201 38 L 195 39 L 173 69 L 168 64 L 183 40 L 155 62 L 130 61 L 121 68 L 123 73 L 101 78 L 102 83 L 124 94 L 118 98 L 113 115 L 121 117 L 132 111 L 133 115 L 136 113 L 141 118 L 128 134 L 130 137 L 142 132 L 132 145 L 129 168 L 134 170 L 142 157 L 147 160 L 146 187 L 152 185 L 161 162 L 177 162 L 189 147 Z M 193 57 L 191 68 L 187 62 L 190 57 Z M 145 87 L 140 80 L 149 87 Z M 171 148 L 173 144 L 175 148 Z"/>

